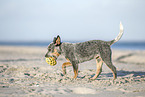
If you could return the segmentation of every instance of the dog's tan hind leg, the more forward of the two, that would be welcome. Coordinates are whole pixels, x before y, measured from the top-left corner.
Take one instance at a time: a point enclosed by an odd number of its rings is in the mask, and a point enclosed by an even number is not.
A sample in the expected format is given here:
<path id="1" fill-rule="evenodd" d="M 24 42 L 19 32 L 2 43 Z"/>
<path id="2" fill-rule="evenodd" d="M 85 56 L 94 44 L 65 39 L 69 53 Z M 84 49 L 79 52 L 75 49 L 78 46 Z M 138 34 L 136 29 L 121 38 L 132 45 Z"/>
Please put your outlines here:
<path id="1" fill-rule="evenodd" d="M 99 57 L 98 59 L 96 59 L 96 63 L 97 63 L 96 74 L 92 78 L 90 78 L 90 80 L 96 79 L 102 72 L 102 65 L 103 65 L 102 59 Z"/>

